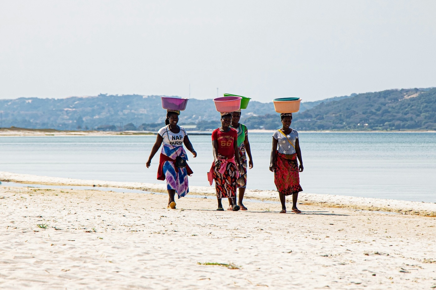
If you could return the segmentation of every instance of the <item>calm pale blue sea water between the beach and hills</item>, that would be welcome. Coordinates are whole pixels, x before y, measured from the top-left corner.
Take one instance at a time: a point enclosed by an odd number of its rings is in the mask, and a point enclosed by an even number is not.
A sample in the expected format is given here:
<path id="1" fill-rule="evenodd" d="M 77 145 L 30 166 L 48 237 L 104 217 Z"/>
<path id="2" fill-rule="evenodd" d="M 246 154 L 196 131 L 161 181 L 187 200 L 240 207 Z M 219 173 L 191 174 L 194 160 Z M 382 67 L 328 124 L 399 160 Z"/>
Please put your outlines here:
<path id="1" fill-rule="evenodd" d="M 248 189 L 275 189 L 271 133 L 250 133 L 254 168 Z M 154 182 L 155 136 L 0 137 L 0 171 L 109 181 Z M 197 158 L 190 185 L 209 186 L 211 137 L 190 136 Z M 300 133 L 303 192 L 436 202 L 435 133 Z"/>

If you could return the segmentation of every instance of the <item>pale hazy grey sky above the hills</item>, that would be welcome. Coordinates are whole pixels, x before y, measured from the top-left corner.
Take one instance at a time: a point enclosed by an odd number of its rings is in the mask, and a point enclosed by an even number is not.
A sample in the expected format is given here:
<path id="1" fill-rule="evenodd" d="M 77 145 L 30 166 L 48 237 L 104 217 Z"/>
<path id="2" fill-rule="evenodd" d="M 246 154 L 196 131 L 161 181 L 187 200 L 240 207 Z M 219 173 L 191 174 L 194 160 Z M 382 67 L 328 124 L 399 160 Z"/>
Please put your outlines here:
<path id="1" fill-rule="evenodd" d="M 0 0 L 0 98 L 436 86 L 436 1 Z"/>

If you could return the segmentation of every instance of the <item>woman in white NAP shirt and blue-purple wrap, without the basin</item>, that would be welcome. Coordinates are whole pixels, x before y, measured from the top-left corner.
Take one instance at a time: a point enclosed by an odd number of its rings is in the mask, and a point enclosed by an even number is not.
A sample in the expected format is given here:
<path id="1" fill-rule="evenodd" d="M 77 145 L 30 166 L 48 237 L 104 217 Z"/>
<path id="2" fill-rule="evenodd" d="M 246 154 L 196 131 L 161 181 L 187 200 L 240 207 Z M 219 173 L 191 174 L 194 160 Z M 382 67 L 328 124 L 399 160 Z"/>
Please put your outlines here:
<path id="1" fill-rule="evenodd" d="M 164 143 L 160 151 L 157 179 L 167 179 L 168 207 L 171 209 L 176 208 L 176 202 L 174 201 L 176 192 L 179 199 L 189 192 L 188 175 L 193 173 L 186 163 L 188 157 L 183 144 L 192 152 L 194 157 L 197 157 L 197 152 L 192 147 L 185 129 L 177 125 L 179 115 L 180 111 L 167 110 L 166 126 L 160 128 L 157 132 L 156 142 L 154 142 L 150 157 L 146 163 L 147 168 L 149 168 L 151 159 L 159 150 L 160 145 Z"/>

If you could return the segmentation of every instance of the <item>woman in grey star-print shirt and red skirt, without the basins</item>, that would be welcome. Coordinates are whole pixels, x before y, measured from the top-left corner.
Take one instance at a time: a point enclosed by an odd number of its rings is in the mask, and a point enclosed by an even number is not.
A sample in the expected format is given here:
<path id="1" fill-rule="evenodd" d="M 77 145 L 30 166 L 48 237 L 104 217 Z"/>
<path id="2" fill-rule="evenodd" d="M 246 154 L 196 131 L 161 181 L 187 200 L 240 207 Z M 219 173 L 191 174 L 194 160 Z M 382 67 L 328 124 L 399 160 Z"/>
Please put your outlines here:
<path id="1" fill-rule="evenodd" d="M 300 186 L 299 172 L 303 172 L 298 132 L 290 128 L 292 113 L 280 114 L 283 127 L 272 135 L 271 163 L 269 170 L 274 172 L 274 183 L 279 192 L 282 210 L 286 213 L 285 196 L 292 195 L 292 211 L 301 213 L 297 208 L 298 192 L 303 191 Z M 277 150 L 278 146 L 278 150 Z M 297 163 L 300 162 L 300 166 Z"/>

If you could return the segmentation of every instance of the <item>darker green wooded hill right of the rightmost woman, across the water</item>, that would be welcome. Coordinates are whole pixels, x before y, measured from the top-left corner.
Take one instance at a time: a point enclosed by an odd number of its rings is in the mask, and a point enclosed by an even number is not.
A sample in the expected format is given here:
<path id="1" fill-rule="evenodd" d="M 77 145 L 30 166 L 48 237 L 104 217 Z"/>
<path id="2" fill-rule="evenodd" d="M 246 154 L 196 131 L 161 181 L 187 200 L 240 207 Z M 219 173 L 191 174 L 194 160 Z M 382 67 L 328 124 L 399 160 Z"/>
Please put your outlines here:
<path id="1" fill-rule="evenodd" d="M 436 130 L 436 88 L 387 90 L 321 103 L 296 115 L 300 130 Z"/>

